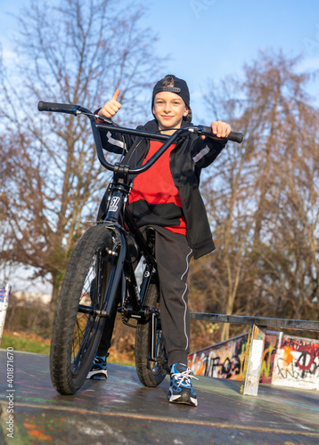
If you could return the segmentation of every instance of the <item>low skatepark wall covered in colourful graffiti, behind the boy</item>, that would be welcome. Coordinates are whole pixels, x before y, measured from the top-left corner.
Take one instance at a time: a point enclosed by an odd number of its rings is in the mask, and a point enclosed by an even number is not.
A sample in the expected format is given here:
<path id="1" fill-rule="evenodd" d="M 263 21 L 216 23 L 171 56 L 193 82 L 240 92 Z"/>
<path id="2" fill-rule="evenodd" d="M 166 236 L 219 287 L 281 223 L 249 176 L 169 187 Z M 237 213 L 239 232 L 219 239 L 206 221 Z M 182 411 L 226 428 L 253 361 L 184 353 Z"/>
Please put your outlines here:
<path id="1" fill-rule="evenodd" d="M 198 376 L 241 380 L 248 333 L 194 352 L 188 366 Z M 319 389 L 319 341 L 267 331 L 260 383 Z"/>

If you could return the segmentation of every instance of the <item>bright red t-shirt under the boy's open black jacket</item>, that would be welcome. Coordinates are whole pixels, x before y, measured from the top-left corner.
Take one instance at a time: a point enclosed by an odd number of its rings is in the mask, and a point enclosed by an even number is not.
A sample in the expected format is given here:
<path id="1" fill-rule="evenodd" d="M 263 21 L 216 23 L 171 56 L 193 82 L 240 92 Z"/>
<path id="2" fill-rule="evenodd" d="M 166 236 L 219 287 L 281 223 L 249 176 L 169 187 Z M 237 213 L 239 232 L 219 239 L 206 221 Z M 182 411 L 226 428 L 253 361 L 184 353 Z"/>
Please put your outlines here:
<path id="1" fill-rule="evenodd" d="M 144 158 L 143 164 L 159 150 L 161 145 L 162 142 L 159 141 L 150 142 L 150 150 Z M 171 145 L 151 168 L 135 177 L 133 188 L 128 198 L 129 204 L 142 200 L 151 206 L 174 204 L 182 209 L 182 201 L 169 167 L 169 156 L 175 147 L 175 144 Z M 186 220 L 184 215 L 181 216 L 179 225 L 163 227 L 168 229 L 168 231 L 186 235 Z"/>

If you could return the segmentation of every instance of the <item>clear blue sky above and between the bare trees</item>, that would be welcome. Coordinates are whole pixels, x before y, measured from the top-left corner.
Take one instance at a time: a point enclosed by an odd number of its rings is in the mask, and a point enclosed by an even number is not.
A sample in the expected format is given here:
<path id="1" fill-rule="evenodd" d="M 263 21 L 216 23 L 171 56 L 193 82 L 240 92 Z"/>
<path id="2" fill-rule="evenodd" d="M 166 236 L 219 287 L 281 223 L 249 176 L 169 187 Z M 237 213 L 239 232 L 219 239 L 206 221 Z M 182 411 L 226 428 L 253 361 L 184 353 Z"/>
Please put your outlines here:
<path id="1" fill-rule="evenodd" d="M 196 123 L 209 125 L 212 120 L 202 100 L 209 80 L 241 76 L 243 65 L 257 59 L 259 51 L 281 49 L 290 57 L 302 54 L 300 71 L 319 69 L 318 0 L 143 0 L 138 4 L 147 10 L 141 25 L 158 36 L 159 57 L 169 54 L 159 74 L 175 74 L 187 81 Z M 4 60 L 19 62 L 12 53 L 12 36 L 19 30 L 12 14 L 18 15 L 28 5 L 29 0 L 0 0 Z M 319 82 L 309 85 L 308 91 L 319 106 Z"/>

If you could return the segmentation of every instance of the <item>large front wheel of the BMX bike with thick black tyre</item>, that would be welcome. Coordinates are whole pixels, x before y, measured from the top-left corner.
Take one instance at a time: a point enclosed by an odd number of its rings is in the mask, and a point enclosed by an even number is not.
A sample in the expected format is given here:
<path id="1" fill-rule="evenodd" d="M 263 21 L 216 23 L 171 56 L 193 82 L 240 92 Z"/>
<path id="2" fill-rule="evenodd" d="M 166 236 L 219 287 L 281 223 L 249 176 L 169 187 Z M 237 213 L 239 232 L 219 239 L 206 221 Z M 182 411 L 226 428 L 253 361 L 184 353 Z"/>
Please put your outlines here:
<path id="1" fill-rule="evenodd" d="M 53 386 L 63 395 L 74 394 L 85 382 L 100 343 L 106 320 L 101 310 L 117 265 L 112 250 L 111 232 L 101 224 L 86 231 L 70 258 L 50 352 Z"/>

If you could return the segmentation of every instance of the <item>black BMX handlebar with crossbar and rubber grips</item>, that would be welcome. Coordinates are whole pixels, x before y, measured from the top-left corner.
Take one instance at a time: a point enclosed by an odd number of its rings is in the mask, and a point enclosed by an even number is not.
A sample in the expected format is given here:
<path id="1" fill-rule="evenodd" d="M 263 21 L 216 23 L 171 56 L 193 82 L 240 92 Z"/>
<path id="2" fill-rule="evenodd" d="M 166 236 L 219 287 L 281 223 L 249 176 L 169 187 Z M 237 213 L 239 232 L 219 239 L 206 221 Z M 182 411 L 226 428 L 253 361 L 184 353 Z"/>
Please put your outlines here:
<path id="1" fill-rule="evenodd" d="M 158 141 L 165 141 L 160 149 L 145 163 L 143 166 L 139 167 L 129 167 L 127 170 L 127 174 L 140 174 L 148 170 L 159 158 L 160 156 L 168 150 L 168 147 L 176 142 L 176 139 L 180 137 L 181 134 L 191 132 L 204 136 L 208 136 L 211 139 L 215 139 L 217 141 L 232 141 L 241 143 L 243 139 L 242 133 L 231 132 L 226 138 L 218 138 L 215 134 L 212 133 L 212 129 L 210 126 L 205 125 L 188 125 L 181 128 L 178 128 L 173 134 L 157 134 L 151 133 L 144 130 L 137 130 L 131 128 L 125 128 L 121 126 L 114 125 L 106 125 L 106 124 L 98 124 L 95 121 L 95 115 L 89 109 L 85 109 L 80 105 L 70 104 L 70 103 L 56 103 L 56 102 L 45 102 L 39 101 L 37 104 L 37 109 L 39 111 L 52 111 L 55 113 L 65 113 L 65 114 L 73 114 L 74 116 L 78 116 L 79 114 L 85 114 L 91 121 L 92 132 L 94 135 L 95 149 L 97 151 L 97 156 L 99 158 L 102 166 L 107 168 L 110 171 L 115 170 L 116 166 L 110 164 L 107 159 L 104 157 L 102 142 L 100 138 L 100 131 L 110 131 L 116 132 L 120 134 L 130 134 L 132 136 L 140 136 L 148 139 L 155 139 Z"/>

